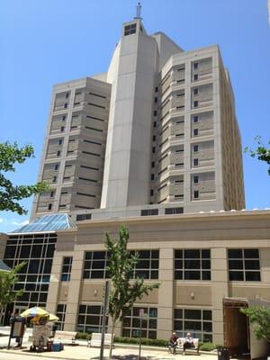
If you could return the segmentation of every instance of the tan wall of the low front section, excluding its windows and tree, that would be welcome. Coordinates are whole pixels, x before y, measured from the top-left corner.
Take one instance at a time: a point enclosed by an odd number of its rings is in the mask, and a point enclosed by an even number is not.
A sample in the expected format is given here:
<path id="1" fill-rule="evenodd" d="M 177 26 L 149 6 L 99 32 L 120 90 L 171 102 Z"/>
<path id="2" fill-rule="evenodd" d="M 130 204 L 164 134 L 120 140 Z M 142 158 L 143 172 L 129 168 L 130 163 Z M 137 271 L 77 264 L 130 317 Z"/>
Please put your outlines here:
<path id="1" fill-rule="evenodd" d="M 58 232 L 53 259 L 47 307 L 56 311 L 59 302 L 67 303 L 65 329 L 76 329 L 80 303 L 103 301 L 104 282 L 83 280 L 85 251 L 103 250 L 104 232 L 116 237 L 123 224 L 130 229 L 130 249 L 159 249 L 160 288 L 138 302 L 157 308 L 157 338 L 168 338 L 174 329 L 175 309 L 201 309 L 211 310 L 212 340 L 222 343 L 224 297 L 270 301 L 270 211 L 85 220 L 77 230 Z M 228 249 L 232 248 L 259 250 L 261 281 L 229 281 Z M 211 249 L 211 280 L 175 280 L 175 249 Z M 73 256 L 70 281 L 61 282 L 62 258 L 68 256 Z M 117 334 L 121 335 L 121 327 Z"/>

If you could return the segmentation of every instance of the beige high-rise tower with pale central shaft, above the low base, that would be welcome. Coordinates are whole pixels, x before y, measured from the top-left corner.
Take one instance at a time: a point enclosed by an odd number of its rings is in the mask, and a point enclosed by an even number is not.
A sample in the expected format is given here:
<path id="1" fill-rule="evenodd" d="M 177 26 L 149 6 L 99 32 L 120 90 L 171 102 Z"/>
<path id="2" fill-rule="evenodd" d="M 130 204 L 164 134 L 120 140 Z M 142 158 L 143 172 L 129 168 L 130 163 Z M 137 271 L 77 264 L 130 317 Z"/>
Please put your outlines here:
<path id="1" fill-rule="evenodd" d="M 218 46 L 184 51 L 162 32 L 148 35 L 140 18 L 124 23 L 107 73 L 54 87 L 39 180 L 51 190 L 32 218 L 245 208 Z"/>

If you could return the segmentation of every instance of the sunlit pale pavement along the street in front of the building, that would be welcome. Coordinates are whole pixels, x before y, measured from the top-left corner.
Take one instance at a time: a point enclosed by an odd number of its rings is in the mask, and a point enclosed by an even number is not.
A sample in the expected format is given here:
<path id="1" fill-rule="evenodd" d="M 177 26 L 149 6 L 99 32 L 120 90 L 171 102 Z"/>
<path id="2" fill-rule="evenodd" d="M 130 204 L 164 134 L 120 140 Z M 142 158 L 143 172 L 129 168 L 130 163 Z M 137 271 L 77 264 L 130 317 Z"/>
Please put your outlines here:
<path id="1" fill-rule="evenodd" d="M 8 334 L 9 327 L 2 328 L 0 327 L 0 333 L 3 335 L 0 337 L 0 347 L 6 347 L 8 344 Z M 100 355 L 99 348 L 86 347 L 86 342 L 81 340 L 78 341 L 79 345 L 76 347 L 66 345 L 63 351 L 60 352 L 44 352 L 44 353 L 31 353 L 29 347 L 31 343 L 28 342 L 28 337 L 31 335 L 31 329 L 27 329 L 25 336 L 23 338 L 23 349 L 16 349 L 15 340 L 12 339 L 11 349 L 7 350 L 2 348 L 0 350 L 0 360 L 6 359 L 17 359 L 22 358 L 22 360 L 29 359 L 34 360 L 37 358 L 47 359 L 67 359 L 67 360 L 98 360 Z M 138 346 L 123 346 L 116 344 L 116 347 L 113 349 L 112 358 L 118 360 L 138 360 L 139 347 Z M 104 350 L 104 359 L 108 359 L 109 350 Z M 202 354 L 200 355 L 200 360 L 217 360 L 216 354 Z M 172 355 L 168 354 L 166 349 L 153 349 L 153 347 L 142 347 L 141 351 L 141 360 L 177 360 L 182 359 L 183 356 L 180 354 Z M 188 360 L 198 360 L 198 356 L 192 355 L 191 353 L 185 356 Z"/>

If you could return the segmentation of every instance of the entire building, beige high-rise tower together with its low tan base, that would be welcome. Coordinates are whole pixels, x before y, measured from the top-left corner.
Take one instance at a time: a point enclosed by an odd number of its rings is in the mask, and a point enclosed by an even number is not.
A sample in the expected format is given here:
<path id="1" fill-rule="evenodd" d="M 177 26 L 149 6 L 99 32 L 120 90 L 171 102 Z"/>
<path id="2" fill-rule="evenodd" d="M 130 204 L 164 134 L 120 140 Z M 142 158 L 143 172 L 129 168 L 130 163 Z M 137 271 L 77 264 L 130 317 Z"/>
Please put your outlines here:
<path id="1" fill-rule="evenodd" d="M 159 282 L 115 329 L 144 338 L 187 331 L 256 351 L 241 306 L 270 301 L 270 211 L 244 209 L 241 141 L 218 46 L 184 51 L 124 23 L 106 73 L 56 85 L 31 222 L 0 234 L 0 258 L 25 260 L 21 311 L 43 306 L 64 330 L 100 332 L 104 232 L 125 223 L 134 277 Z M 264 302 L 265 303 L 265 302 Z M 224 316 L 224 314 L 226 316 Z M 108 331 L 111 322 L 108 321 Z M 250 340 L 250 341 L 249 341 Z"/>

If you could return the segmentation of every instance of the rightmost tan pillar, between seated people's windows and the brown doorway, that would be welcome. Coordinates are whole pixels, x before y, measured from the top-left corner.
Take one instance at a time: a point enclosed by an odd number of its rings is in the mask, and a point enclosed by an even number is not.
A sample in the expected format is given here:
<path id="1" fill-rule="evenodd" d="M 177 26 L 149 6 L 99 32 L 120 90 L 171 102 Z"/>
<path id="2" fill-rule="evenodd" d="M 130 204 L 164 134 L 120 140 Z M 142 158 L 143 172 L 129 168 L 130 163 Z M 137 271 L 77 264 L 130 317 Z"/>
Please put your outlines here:
<path id="1" fill-rule="evenodd" d="M 223 298 L 229 296 L 227 249 L 211 248 L 212 341 L 222 344 Z"/>

